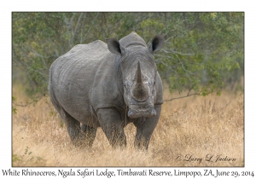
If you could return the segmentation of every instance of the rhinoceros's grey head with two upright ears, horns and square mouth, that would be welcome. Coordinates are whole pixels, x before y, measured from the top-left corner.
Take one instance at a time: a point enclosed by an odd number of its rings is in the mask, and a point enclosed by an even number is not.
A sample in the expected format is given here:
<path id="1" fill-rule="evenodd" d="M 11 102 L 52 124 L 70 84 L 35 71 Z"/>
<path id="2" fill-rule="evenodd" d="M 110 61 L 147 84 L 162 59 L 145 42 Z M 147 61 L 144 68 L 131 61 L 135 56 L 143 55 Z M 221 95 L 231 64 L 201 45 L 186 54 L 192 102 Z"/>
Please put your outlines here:
<path id="1" fill-rule="evenodd" d="M 164 37 L 156 35 L 148 46 L 142 43 L 142 38 L 136 33 L 129 36 L 139 38 L 128 45 L 122 45 L 115 38 L 108 39 L 108 49 L 119 55 L 119 66 L 124 84 L 124 100 L 129 107 L 130 118 L 153 117 L 156 115 L 154 101 L 156 100 L 157 69 L 154 62 L 154 52 L 164 44 Z M 127 41 L 125 42 L 127 44 Z"/>

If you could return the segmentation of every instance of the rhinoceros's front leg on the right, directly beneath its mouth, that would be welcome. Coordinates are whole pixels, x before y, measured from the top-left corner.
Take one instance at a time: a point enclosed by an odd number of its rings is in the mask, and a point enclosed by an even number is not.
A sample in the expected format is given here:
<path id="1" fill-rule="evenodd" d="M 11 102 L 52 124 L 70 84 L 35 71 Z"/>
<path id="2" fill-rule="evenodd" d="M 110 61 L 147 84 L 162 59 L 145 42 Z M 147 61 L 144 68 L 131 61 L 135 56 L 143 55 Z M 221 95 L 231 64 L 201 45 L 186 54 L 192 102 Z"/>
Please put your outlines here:
<path id="1" fill-rule="evenodd" d="M 134 146 L 138 149 L 148 150 L 148 144 L 153 134 L 154 128 L 160 118 L 161 106 L 154 106 L 156 115 L 153 118 L 138 118 L 133 124 L 137 127 L 137 134 Z"/>

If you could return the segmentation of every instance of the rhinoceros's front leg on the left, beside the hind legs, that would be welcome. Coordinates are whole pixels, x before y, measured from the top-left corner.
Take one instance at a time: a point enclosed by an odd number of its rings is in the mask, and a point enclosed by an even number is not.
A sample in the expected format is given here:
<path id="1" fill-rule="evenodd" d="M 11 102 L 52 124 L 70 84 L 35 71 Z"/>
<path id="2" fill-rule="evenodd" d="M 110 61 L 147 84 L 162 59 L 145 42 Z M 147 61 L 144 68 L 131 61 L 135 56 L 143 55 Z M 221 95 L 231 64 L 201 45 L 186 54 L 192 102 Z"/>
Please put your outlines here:
<path id="1" fill-rule="evenodd" d="M 125 147 L 126 136 L 120 114 L 113 108 L 99 109 L 98 120 L 112 147 Z"/>

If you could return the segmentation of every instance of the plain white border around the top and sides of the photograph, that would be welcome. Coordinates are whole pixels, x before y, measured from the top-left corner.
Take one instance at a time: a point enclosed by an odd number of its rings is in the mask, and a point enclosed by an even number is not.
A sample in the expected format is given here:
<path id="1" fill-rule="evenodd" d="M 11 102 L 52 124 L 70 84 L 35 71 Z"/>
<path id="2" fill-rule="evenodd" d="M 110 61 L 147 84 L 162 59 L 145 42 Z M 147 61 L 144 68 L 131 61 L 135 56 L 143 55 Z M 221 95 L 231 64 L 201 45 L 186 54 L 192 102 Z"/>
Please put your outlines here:
<path id="1" fill-rule="evenodd" d="M 3 1 L 0 7 L 1 22 L 1 116 L 0 116 L 0 176 L 3 169 L 11 168 L 11 12 L 13 11 L 244 11 L 245 12 L 245 168 L 219 168 L 219 170 L 254 169 L 255 157 L 255 9 L 253 3 L 243 1 Z M 177 169 L 177 168 L 176 168 Z M 209 169 L 209 168 L 207 168 Z M 37 170 L 56 170 L 37 168 Z M 173 168 L 159 168 L 173 170 Z M 181 170 L 186 170 L 182 168 Z M 203 170 L 203 168 L 187 168 Z M 255 173 L 255 170 L 254 170 Z M 256 174 L 256 173 L 255 173 Z M 78 177 L 77 177 L 78 178 Z"/>

